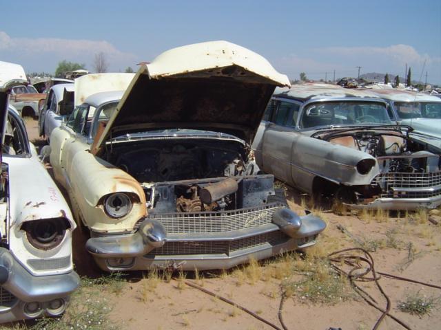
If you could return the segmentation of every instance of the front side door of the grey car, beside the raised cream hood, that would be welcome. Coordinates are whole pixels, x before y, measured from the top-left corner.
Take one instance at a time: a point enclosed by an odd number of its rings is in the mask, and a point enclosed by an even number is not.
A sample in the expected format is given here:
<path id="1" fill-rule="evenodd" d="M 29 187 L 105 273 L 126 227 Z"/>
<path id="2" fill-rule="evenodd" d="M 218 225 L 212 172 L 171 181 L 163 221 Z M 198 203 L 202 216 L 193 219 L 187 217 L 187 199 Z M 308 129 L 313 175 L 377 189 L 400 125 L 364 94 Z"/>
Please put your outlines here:
<path id="1" fill-rule="evenodd" d="M 296 123 L 300 104 L 294 100 L 276 100 L 276 111 L 265 128 L 262 142 L 263 170 L 278 179 L 294 184 L 291 159 L 298 131 Z"/>

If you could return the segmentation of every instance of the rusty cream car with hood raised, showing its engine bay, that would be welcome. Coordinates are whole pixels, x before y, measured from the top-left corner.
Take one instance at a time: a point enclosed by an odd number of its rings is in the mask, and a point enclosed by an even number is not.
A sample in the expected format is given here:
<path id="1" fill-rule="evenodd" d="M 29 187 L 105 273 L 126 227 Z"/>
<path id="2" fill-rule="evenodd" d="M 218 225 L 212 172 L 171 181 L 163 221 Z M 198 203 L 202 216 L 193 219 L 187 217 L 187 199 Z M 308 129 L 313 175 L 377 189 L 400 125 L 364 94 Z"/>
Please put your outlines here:
<path id="1" fill-rule="evenodd" d="M 167 51 L 123 96 L 76 107 L 52 132 L 50 162 L 99 266 L 229 268 L 313 245 L 325 223 L 287 208 L 249 145 L 284 85 L 265 58 L 215 41 Z"/>

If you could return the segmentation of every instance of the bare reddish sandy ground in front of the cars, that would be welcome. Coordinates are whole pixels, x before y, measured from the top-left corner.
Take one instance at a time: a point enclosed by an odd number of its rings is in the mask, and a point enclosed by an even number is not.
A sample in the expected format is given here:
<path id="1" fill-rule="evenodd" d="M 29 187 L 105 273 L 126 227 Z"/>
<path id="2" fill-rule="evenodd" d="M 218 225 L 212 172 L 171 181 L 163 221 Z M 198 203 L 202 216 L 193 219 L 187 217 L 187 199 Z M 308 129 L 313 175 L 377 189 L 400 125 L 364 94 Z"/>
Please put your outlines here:
<path id="1" fill-rule="evenodd" d="M 37 137 L 37 121 L 27 120 L 26 124 L 30 140 L 37 145 L 43 144 Z M 300 206 L 300 193 L 288 188 L 287 195 L 291 208 L 304 214 Z M 377 271 L 441 285 L 440 225 L 418 220 L 418 214 L 385 219 L 362 219 L 355 214 L 339 216 L 332 212 L 319 214 L 327 221 L 328 226 L 318 237 L 314 248 L 316 252 L 327 254 L 341 248 L 355 247 L 358 246 L 357 241 L 365 242 L 366 245 L 378 245 L 376 251 L 372 252 Z M 343 225 L 353 236 L 341 232 L 337 228 L 338 225 Z M 81 275 L 96 276 L 100 273 L 83 250 L 84 235 L 79 230 L 77 232 L 74 239 L 76 270 Z M 393 247 L 388 247 L 391 245 Z M 409 260 L 409 246 L 412 247 L 415 258 L 404 267 L 405 261 Z M 269 265 L 261 264 L 257 272 L 264 273 L 268 267 L 278 267 L 281 263 L 283 261 L 274 260 Z M 244 279 L 238 274 L 240 272 L 234 270 L 226 274 L 214 272 L 204 274 L 203 279 L 199 280 L 194 279 L 194 273 L 185 275 L 190 278 L 189 281 L 203 285 L 218 296 L 233 300 L 280 327 L 280 283 L 284 279 L 258 276 L 258 280 L 250 281 L 249 278 Z M 123 329 L 271 329 L 249 314 L 227 305 L 218 298 L 183 285 L 180 281 L 153 281 L 145 276 L 141 272 L 129 274 L 127 284 L 119 294 L 107 291 L 102 293 L 112 301 L 113 311 L 110 318 Z M 411 329 L 441 329 L 439 310 L 435 309 L 431 315 L 420 318 L 403 313 L 397 308 L 398 302 L 404 300 L 406 294 L 420 292 L 427 296 L 440 297 L 440 289 L 384 277 L 379 282 L 391 299 L 391 314 L 406 322 Z M 360 285 L 376 298 L 382 307 L 386 306 L 384 298 L 373 282 Z M 283 309 L 283 318 L 290 330 L 324 330 L 329 327 L 340 327 L 343 330 L 372 329 L 379 316 L 379 311 L 360 298 L 335 305 L 322 305 L 307 303 L 300 296 L 292 296 L 286 300 Z M 379 329 L 404 328 L 391 318 L 385 318 Z"/>

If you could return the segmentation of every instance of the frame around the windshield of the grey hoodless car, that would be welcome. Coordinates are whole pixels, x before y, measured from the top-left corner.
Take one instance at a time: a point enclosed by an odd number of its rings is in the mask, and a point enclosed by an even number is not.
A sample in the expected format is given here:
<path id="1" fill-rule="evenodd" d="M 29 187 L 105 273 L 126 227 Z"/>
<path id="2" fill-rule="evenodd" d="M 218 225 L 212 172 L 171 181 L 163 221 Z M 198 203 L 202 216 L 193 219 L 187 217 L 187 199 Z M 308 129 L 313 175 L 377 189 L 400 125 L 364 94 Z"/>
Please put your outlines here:
<path id="1" fill-rule="evenodd" d="M 302 120 L 305 116 L 305 112 L 311 104 L 314 103 L 360 103 L 360 104 L 379 104 L 381 107 L 384 107 L 384 120 L 387 120 L 387 122 L 357 122 L 357 123 L 342 123 L 342 124 L 324 124 L 324 125 L 317 125 L 317 126 L 309 126 L 304 127 L 302 126 Z M 304 102 L 300 109 L 300 114 L 298 115 L 297 119 L 297 128 L 299 131 L 314 131 L 316 129 L 327 129 L 327 128 L 334 128 L 334 127 L 360 127 L 360 126 L 386 126 L 386 125 L 392 125 L 393 122 L 389 118 L 389 115 L 387 113 L 387 102 L 384 100 L 380 100 L 378 98 L 317 98 L 317 99 L 310 99 L 307 102 Z"/>

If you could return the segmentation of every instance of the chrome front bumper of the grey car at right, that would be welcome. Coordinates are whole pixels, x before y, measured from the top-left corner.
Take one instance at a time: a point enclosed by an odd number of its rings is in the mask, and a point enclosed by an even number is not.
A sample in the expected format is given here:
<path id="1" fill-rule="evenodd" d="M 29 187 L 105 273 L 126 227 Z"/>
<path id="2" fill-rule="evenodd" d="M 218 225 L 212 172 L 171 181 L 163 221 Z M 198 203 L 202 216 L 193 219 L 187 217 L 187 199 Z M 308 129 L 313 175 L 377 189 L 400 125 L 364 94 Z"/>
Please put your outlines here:
<path id="1" fill-rule="evenodd" d="M 438 208 L 441 205 L 441 195 L 429 198 L 389 198 L 375 199 L 370 203 L 347 204 L 353 209 L 381 210 L 417 210 L 418 208 Z"/>

